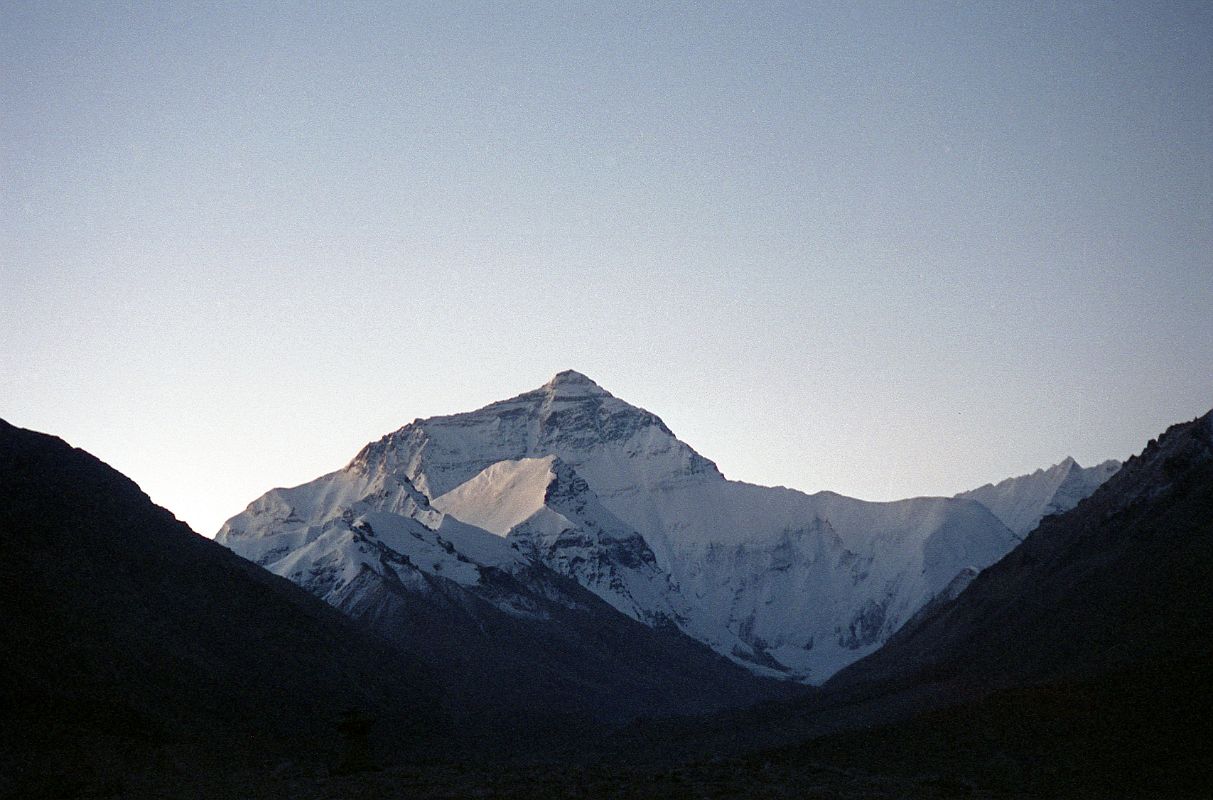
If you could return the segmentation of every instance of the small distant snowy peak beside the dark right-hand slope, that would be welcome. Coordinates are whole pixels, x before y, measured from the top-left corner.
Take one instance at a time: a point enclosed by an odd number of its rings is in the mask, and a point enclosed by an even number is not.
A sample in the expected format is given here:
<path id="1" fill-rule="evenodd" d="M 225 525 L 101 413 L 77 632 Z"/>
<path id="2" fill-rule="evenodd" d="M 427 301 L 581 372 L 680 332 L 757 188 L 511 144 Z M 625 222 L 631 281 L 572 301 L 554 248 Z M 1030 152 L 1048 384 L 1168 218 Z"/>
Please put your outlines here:
<path id="1" fill-rule="evenodd" d="M 1090 497 L 1120 468 L 1121 462 L 1115 459 L 1094 467 L 1081 467 L 1074 458 L 1066 457 L 1048 469 L 986 484 L 961 492 L 957 497 L 975 499 L 993 512 L 1016 536 L 1024 537 L 1043 518 L 1069 512 Z"/>

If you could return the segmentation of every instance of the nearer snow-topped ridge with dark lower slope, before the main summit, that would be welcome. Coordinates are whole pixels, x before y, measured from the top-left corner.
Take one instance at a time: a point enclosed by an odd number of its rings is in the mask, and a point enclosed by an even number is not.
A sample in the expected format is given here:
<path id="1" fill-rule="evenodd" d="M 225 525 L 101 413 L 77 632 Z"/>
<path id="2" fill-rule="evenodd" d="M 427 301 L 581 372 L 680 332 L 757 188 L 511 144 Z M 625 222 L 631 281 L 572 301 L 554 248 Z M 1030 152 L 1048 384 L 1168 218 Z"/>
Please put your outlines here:
<path id="1" fill-rule="evenodd" d="M 622 721 L 770 696 L 677 629 L 632 618 L 657 607 L 637 579 L 665 575 L 571 470 L 553 458 L 505 462 L 485 480 L 507 473 L 509 491 L 467 508 L 472 516 L 500 501 L 484 524 L 509 536 L 444 514 L 403 474 L 355 462 L 267 493 L 216 539 L 416 652 L 442 676 L 451 707 L 492 728 L 541 710 Z M 468 484 L 465 503 L 483 482 Z M 553 565 L 576 579 L 546 566 L 539 550 L 554 550 Z M 649 605 L 628 605 L 628 590 Z"/>

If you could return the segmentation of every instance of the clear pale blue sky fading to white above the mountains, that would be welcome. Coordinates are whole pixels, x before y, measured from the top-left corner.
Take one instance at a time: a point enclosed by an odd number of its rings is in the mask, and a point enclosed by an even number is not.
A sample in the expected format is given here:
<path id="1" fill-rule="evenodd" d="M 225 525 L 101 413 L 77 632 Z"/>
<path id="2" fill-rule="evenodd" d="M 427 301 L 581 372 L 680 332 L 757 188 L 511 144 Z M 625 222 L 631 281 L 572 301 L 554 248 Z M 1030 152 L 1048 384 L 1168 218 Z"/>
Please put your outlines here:
<path id="1" fill-rule="evenodd" d="M 1213 5 L 0 2 L 0 417 L 200 532 L 576 368 L 869 499 L 1213 406 Z"/>

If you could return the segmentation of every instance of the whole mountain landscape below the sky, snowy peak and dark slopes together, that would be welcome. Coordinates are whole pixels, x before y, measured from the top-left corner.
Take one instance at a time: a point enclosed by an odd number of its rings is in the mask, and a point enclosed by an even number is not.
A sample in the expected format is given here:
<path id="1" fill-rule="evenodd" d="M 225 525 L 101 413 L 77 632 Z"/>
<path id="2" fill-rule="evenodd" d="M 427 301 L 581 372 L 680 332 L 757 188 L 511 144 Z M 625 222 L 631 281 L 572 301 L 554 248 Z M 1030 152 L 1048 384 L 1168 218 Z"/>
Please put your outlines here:
<path id="1" fill-rule="evenodd" d="M 247 559 L 0 422 L 0 798 L 1213 781 L 1213 412 L 1123 465 L 865 503 L 725 480 L 560 373 L 220 538 Z"/>

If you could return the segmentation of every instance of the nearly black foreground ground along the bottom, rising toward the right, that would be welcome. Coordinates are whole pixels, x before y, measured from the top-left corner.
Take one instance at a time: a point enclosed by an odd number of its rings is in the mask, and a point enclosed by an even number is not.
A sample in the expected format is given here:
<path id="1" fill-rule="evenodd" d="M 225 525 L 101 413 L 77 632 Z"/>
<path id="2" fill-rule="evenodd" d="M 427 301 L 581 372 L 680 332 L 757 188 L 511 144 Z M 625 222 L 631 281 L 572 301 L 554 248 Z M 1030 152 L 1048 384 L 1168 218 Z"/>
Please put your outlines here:
<path id="1" fill-rule="evenodd" d="M 665 765 L 417 760 L 351 776 L 161 776 L 165 794 L 280 800 L 380 798 L 945 799 L 1207 798 L 1211 659 L 1008 690 L 901 724 L 798 745 Z"/>

